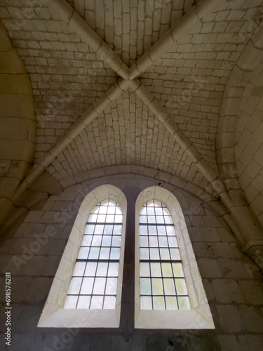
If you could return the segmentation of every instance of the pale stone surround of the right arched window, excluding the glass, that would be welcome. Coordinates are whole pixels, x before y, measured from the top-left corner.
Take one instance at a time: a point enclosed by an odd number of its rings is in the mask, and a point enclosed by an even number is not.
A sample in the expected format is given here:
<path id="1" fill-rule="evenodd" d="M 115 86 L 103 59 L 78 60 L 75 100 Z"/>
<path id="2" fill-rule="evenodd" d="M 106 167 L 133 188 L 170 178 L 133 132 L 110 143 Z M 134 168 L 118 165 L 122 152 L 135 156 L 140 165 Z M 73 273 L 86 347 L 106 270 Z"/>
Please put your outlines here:
<path id="1" fill-rule="evenodd" d="M 163 203 L 173 218 L 191 310 L 140 309 L 139 218 L 142 206 L 153 199 Z M 144 189 L 135 204 L 135 329 L 215 329 L 182 208 L 175 195 L 162 187 Z"/>

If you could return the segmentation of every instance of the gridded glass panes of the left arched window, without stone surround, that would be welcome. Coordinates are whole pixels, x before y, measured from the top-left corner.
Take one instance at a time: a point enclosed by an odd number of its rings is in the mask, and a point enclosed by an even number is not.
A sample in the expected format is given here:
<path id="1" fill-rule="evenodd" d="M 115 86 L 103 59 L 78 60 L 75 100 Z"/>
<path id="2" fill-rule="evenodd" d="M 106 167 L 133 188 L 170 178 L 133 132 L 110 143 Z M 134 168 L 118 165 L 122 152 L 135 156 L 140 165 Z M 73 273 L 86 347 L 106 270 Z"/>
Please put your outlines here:
<path id="1" fill-rule="evenodd" d="M 116 201 L 105 200 L 95 206 L 88 218 L 65 308 L 115 307 L 121 229 L 121 208 Z"/>

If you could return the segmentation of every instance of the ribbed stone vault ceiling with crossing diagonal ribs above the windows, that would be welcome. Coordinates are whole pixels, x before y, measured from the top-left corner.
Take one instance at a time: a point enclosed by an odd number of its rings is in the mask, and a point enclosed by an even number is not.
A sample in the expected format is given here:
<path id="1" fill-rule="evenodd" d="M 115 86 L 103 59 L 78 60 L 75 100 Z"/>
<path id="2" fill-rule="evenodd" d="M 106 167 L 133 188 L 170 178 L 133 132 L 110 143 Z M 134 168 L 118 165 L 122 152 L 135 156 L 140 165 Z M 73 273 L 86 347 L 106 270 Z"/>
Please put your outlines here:
<path id="1" fill-rule="evenodd" d="M 37 121 L 35 167 L 22 190 L 45 168 L 62 181 L 135 164 L 222 195 L 220 106 L 259 30 L 261 6 L 259 0 L 2 0 L 0 18 L 29 74 Z"/>

